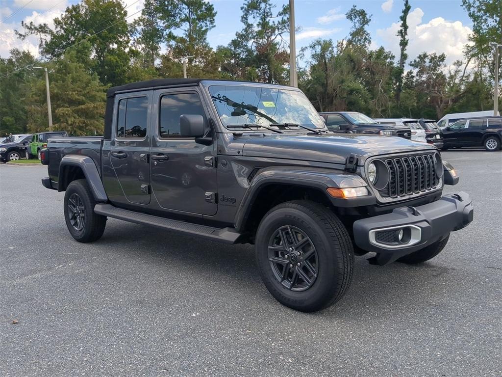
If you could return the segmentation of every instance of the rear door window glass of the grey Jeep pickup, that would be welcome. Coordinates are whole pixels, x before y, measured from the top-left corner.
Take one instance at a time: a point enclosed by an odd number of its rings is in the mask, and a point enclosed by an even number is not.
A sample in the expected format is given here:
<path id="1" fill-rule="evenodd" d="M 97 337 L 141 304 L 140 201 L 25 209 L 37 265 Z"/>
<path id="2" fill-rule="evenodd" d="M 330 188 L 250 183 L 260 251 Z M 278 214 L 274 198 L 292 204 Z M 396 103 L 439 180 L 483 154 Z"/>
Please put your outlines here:
<path id="1" fill-rule="evenodd" d="M 118 102 L 117 137 L 147 136 L 148 98 L 124 98 Z"/>

